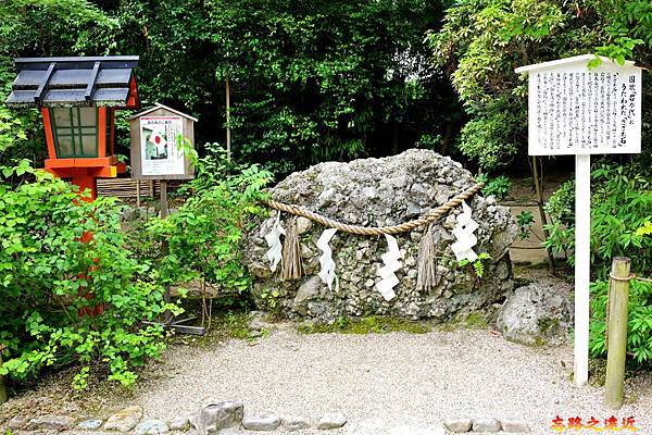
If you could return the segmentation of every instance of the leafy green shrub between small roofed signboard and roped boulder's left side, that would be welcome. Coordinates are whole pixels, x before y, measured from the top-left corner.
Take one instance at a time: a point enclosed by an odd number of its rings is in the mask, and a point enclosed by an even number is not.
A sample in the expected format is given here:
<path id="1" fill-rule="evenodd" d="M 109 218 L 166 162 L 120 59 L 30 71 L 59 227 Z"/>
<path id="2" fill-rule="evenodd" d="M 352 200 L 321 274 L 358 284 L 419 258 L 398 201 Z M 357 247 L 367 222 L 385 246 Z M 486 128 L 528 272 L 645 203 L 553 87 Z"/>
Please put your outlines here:
<path id="1" fill-rule="evenodd" d="M 180 191 L 188 197 L 185 203 L 167 219 L 148 221 L 142 236 L 159 246 L 167 241 L 167 253 L 152 259 L 161 284 L 200 278 L 243 291 L 249 275 L 240 263 L 239 243 L 251 215 L 263 211 L 261 189 L 272 175 L 258 165 L 228 162 L 215 145 L 206 149 L 209 154 L 196 164 L 197 177 Z"/>

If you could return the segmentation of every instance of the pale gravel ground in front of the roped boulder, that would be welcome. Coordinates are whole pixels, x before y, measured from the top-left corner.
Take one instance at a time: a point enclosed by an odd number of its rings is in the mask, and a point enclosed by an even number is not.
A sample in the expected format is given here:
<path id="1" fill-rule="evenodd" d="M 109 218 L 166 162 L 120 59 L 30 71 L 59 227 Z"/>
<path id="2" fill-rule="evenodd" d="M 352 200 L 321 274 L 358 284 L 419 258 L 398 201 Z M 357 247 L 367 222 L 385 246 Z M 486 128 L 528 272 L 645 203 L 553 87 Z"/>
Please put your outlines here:
<path id="1" fill-rule="evenodd" d="M 141 383 L 129 402 L 164 419 L 206 399 L 240 400 L 246 414 L 318 418 L 339 408 L 349 423 L 334 434 L 417 434 L 452 415 L 522 417 L 543 434 L 557 414 L 631 415 L 652 434 L 651 374 L 630 380 L 631 403 L 613 412 L 602 389 L 572 385 L 572 368 L 568 346 L 532 349 L 486 330 L 303 335 L 286 325 L 255 345 L 173 347 L 154 369 L 164 376 Z"/>

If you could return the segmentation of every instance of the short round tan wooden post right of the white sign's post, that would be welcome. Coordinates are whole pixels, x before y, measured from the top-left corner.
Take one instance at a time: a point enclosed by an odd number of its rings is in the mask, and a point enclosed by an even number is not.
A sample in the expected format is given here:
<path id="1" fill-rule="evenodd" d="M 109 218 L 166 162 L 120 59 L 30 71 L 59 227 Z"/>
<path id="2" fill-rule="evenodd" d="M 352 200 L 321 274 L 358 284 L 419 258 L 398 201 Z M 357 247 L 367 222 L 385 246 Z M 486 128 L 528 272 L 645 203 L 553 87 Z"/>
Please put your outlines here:
<path id="1" fill-rule="evenodd" d="M 604 406 L 620 409 L 625 388 L 625 360 L 627 358 L 627 308 L 629 303 L 629 270 L 627 257 L 616 257 L 610 277 L 609 344 Z"/>

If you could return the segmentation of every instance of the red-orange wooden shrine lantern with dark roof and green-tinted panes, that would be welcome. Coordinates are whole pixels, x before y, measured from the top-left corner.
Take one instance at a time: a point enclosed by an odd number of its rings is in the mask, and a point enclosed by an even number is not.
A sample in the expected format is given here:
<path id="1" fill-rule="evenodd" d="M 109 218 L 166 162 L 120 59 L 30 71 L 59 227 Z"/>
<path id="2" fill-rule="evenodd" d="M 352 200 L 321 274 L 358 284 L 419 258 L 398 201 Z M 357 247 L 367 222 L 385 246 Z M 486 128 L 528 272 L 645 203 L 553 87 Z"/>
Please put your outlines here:
<path id="1" fill-rule="evenodd" d="M 97 178 L 126 171 L 115 156 L 115 111 L 140 105 L 137 55 L 14 59 L 17 76 L 7 104 L 40 109 L 48 159 L 45 170 L 70 178 L 86 201 Z M 90 196 L 83 195 L 90 190 Z"/>

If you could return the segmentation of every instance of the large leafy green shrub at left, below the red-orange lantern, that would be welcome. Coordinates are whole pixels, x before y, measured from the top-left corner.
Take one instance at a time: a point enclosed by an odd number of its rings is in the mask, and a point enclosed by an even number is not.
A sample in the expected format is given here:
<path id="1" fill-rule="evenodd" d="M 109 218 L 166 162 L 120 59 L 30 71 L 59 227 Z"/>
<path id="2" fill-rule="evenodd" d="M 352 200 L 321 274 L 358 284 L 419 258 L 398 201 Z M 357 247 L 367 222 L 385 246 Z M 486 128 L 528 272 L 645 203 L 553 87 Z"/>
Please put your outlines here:
<path id="1" fill-rule="evenodd" d="M 141 321 L 178 308 L 163 302 L 161 287 L 143 281 L 148 266 L 125 249 L 122 207 L 114 198 L 79 201 L 74 186 L 27 161 L 2 174 L 0 373 L 23 381 L 77 364 L 77 388 L 90 368 L 133 384 L 134 369 L 165 348 L 162 328 Z"/>

